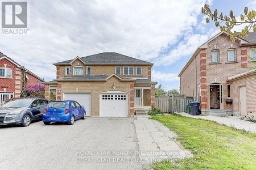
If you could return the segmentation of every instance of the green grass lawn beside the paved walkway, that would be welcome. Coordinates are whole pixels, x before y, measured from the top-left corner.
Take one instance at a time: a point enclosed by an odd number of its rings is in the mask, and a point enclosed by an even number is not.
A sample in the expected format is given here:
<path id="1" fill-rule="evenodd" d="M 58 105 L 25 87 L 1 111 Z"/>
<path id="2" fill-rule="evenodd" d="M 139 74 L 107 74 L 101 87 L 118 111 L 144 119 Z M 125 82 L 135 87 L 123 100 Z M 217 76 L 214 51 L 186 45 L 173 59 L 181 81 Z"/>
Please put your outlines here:
<path id="1" fill-rule="evenodd" d="M 176 164 L 155 163 L 153 169 L 256 169 L 256 134 L 179 114 L 152 119 L 175 131 L 194 155 Z"/>

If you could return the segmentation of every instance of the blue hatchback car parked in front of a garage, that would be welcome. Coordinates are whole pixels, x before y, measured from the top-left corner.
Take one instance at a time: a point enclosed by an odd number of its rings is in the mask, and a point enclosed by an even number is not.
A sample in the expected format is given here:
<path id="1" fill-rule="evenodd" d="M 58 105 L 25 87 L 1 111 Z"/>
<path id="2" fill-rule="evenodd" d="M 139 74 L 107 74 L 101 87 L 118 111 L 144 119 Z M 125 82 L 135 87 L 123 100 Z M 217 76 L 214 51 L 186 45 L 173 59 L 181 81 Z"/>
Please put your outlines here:
<path id="1" fill-rule="evenodd" d="M 84 107 L 74 100 L 51 101 L 43 113 L 45 125 L 51 122 L 68 122 L 69 125 L 73 125 L 75 120 L 86 117 Z"/>

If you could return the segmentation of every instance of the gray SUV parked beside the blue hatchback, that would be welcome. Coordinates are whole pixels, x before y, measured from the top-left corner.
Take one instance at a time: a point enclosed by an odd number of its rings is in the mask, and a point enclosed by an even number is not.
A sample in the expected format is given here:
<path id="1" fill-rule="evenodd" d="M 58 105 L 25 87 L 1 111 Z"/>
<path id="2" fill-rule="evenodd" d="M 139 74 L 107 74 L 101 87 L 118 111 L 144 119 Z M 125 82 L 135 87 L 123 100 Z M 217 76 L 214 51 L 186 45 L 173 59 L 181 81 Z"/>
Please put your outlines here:
<path id="1" fill-rule="evenodd" d="M 15 99 L 2 105 L 0 108 L 0 126 L 30 125 L 32 120 L 42 119 L 43 110 L 48 105 L 44 98 Z"/>

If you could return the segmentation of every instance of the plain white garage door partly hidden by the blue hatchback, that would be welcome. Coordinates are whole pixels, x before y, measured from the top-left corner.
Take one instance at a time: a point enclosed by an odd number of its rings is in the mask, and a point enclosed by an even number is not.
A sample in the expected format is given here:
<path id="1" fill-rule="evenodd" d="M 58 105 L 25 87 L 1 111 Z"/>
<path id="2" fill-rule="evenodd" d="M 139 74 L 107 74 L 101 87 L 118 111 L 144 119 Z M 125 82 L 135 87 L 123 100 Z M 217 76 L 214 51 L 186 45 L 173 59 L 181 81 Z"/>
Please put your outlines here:
<path id="1" fill-rule="evenodd" d="M 90 94 L 63 94 L 64 100 L 75 100 L 83 105 L 86 111 L 86 116 L 90 116 Z"/>

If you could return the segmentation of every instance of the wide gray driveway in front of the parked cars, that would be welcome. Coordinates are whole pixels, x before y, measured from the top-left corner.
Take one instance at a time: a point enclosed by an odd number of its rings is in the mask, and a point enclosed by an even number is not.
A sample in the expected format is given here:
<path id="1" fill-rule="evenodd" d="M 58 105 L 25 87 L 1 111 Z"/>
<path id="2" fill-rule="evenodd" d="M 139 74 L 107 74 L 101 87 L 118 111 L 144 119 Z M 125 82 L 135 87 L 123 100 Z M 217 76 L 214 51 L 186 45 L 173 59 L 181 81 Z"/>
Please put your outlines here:
<path id="1" fill-rule="evenodd" d="M 0 128 L 0 169 L 141 169 L 134 118 Z"/>

